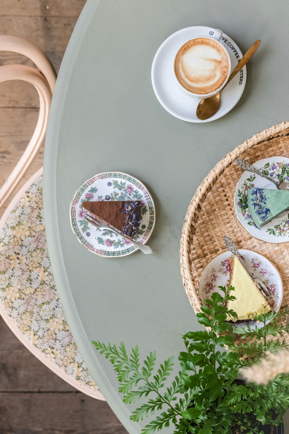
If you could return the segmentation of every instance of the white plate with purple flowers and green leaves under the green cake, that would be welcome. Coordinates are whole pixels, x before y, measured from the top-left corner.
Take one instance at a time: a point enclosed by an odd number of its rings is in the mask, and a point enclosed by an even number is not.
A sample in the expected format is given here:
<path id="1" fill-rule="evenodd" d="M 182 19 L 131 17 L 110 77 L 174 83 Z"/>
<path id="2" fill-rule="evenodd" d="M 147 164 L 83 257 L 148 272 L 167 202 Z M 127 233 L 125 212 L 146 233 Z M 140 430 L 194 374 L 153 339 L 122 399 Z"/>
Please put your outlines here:
<path id="1" fill-rule="evenodd" d="M 278 179 L 279 181 L 289 181 L 289 158 L 270 157 L 256 161 L 253 166 L 261 170 L 263 174 Z M 289 213 L 279 215 L 269 223 L 258 229 L 252 220 L 247 202 L 247 190 L 250 187 L 261 187 L 276 189 L 273 182 L 267 181 L 259 175 L 245 171 L 236 187 L 234 195 L 234 206 L 240 224 L 258 240 L 268 241 L 269 243 L 285 243 L 289 241 Z"/>

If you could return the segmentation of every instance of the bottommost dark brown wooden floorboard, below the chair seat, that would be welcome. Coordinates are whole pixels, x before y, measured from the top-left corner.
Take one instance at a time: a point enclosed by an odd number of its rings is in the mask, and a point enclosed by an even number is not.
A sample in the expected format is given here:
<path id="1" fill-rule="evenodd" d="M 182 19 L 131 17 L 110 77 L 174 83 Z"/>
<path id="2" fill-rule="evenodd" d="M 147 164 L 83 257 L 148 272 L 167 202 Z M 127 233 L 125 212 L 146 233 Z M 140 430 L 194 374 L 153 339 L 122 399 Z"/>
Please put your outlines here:
<path id="1" fill-rule="evenodd" d="M 125 434 L 104 401 L 82 393 L 0 393 L 0 433 Z"/>

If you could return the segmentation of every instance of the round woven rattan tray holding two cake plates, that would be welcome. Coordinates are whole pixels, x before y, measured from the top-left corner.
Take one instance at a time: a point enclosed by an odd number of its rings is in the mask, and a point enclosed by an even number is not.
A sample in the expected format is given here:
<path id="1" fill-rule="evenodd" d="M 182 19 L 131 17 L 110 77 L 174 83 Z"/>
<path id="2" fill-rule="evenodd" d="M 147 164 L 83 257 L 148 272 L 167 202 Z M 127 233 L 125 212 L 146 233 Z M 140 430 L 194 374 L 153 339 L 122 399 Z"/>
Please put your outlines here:
<path id="1" fill-rule="evenodd" d="M 226 251 L 224 235 L 233 238 L 237 248 L 255 250 L 276 266 L 283 280 L 282 306 L 288 306 L 289 242 L 272 244 L 253 238 L 239 223 L 234 209 L 234 192 L 242 174 L 234 159 L 245 158 L 252 164 L 275 155 L 289 157 L 289 122 L 274 125 L 237 146 L 216 164 L 195 192 L 182 229 L 180 263 L 185 291 L 196 313 L 201 307 L 201 273 L 214 256 Z M 286 340 L 289 342 L 289 336 Z"/>

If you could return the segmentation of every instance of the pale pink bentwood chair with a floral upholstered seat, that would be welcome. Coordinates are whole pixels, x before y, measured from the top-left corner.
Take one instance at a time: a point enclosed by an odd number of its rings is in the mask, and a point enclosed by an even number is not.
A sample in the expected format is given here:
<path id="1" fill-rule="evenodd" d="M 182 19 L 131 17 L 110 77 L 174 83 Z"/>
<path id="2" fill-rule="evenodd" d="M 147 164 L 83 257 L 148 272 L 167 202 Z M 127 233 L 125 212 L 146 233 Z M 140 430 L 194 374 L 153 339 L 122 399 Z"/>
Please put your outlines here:
<path id="1" fill-rule="evenodd" d="M 25 80 L 35 86 L 40 101 L 32 138 L 0 189 L 2 207 L 44 141 L 56 72 L 45 53 L 26 39 L 0 36 L 0 48 L 29 57 L 38 68 L 2 66 L 0 82 Z M 79 391 L 104 401 L 78 352 L 55 288 L 45 238 L 42 168 L 16 193 L 0 219 L 0 315 L 44 365 Z"/>

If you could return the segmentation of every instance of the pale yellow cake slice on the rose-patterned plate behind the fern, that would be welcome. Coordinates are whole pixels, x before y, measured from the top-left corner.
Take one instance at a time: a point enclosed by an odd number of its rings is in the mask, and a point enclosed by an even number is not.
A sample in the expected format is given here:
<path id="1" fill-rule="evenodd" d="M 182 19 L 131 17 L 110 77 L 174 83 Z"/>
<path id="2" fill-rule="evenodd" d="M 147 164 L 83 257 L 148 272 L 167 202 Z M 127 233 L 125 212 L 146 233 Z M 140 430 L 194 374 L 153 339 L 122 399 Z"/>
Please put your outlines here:
<path id="1" fill-rule="evenodd" d="M 233 309 L 238 318 L 227 316 L 227 321 L 246 321 L 253 319 L 256 315 L 271 310 L 263 294 L 258 289 L 253 279 L 249 276 L 244 266 L 240 263 L 238 256 L 229 258 L 230 281 L 229 287 L 234 286 L 235 290 L 230 295 L 235 296 L 236 300 L 227 301 L 227 308 Z"/>

